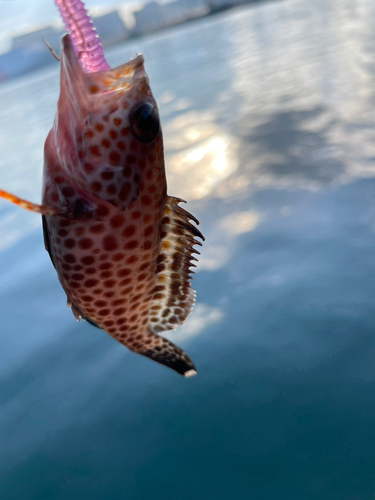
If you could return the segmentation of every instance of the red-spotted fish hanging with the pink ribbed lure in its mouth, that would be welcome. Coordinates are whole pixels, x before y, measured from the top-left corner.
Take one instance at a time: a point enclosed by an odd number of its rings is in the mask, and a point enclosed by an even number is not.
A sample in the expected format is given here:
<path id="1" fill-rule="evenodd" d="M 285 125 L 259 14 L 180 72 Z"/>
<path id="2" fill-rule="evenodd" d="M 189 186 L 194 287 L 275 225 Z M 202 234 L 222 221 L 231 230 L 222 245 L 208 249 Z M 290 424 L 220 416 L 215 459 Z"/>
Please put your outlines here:
<path id="1" fill-rule="evenodd" d="M 42 215 L 45 248 L 77 320 L 195 375 L 189 356 L 160 334 L 192 310 L 195 245 L 204 237 L 184 200 L 167 194 L 144 57 L 111 69 L 84 3 L 55 3 L 69 33 L 56 56 L 60 95 L 44 146 L 42 203 L 3 190 L 0 197 Z"/>

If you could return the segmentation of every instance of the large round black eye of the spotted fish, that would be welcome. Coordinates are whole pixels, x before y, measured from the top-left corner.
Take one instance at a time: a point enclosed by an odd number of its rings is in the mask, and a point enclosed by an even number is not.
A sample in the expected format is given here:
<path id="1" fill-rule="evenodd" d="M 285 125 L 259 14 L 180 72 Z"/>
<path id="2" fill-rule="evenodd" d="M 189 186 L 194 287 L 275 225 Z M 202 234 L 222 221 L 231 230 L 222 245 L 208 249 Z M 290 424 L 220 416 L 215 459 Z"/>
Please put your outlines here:
<path id="1" fill-rule="evenodd" d="M 151 142 L 160 129 L 159 113 L 149 102 L 136 104 L 130 111 L 130 128 L 141 142 Z"/>

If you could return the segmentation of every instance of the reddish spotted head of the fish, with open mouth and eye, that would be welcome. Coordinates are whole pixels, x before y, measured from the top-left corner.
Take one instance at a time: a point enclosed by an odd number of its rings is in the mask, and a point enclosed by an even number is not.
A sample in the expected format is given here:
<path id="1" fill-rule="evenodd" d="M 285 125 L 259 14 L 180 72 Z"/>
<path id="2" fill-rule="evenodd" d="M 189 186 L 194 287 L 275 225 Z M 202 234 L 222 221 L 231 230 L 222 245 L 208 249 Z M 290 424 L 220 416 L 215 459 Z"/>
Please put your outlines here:
<path id="1" fill-rule="evenodd" d="M 142 55 L 86 73 L 70 36 L 62 38 L 60 97 L 45 159 L 47 184 L 48 166 L 57 164 L 73 188 L 119 208 L 139 196 L 150 169 L 166 195 L 159 111 Z"/>

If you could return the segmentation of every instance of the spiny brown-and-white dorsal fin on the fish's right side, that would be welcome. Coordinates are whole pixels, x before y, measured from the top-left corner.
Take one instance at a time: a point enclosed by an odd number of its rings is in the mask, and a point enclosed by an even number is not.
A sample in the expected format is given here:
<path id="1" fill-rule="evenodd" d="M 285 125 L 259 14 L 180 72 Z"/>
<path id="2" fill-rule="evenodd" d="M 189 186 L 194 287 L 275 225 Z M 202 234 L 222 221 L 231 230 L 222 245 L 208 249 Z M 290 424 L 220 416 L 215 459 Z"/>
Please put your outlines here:
<path id="1" fill-rule="evenodd" d="M 189 315 L 195 291 L 190 286 L 190 267 L 193 254 L 199 254 L 194 245 L 202 245 L 195 237 L 204 240 L 201 232 L 190 223 L 197 219 L 178 204 L 184 200 L 169 196 L 166 200 L 162 226 L 157 276 L 150 307 L 149 324 L 154 332 L 172 330 L 181 325 Z"/>

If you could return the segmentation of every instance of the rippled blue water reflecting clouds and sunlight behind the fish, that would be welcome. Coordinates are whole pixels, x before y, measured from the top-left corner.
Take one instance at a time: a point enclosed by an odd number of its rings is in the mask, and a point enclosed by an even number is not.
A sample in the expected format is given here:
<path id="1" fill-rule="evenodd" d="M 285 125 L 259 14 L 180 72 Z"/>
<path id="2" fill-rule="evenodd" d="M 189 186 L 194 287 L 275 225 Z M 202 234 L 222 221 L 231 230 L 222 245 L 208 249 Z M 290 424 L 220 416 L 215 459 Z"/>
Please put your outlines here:
<path id="1" fill-rule="evenodd" d="M 160 105 L 206 236 L 184 380 L 76 323 L 34 214 L 0 204 L 0 499 L 375 495 L 370 0 L 262 3 L 112 50 Z M 38 201 L 58 67 L 0 87 L 0 185 Z"/>

